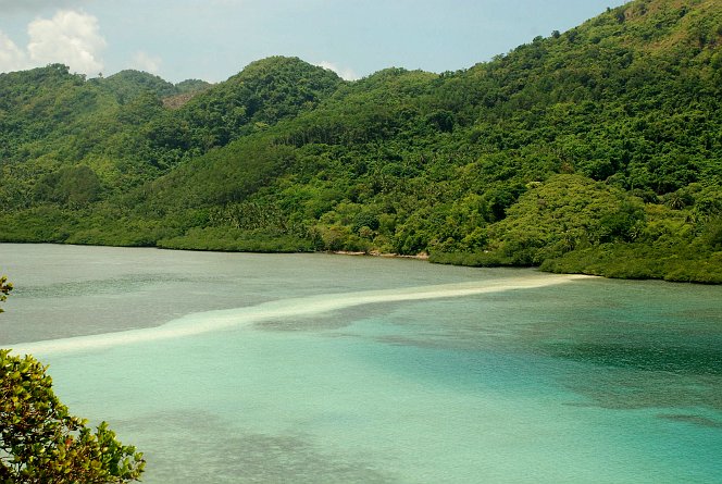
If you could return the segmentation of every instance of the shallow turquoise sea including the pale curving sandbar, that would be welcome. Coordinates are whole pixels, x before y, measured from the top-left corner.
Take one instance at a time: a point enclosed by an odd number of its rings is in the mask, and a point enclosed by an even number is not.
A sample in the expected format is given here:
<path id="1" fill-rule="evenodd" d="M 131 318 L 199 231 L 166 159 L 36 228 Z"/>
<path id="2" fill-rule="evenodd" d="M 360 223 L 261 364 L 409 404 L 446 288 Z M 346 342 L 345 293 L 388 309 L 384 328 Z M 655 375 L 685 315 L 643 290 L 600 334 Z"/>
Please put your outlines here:
<path id="1" fill-rule="evenodd" d="M 722 482 L 722 287 L 41 245 L 0 272 L 0 346 L 147 483 Z"/>

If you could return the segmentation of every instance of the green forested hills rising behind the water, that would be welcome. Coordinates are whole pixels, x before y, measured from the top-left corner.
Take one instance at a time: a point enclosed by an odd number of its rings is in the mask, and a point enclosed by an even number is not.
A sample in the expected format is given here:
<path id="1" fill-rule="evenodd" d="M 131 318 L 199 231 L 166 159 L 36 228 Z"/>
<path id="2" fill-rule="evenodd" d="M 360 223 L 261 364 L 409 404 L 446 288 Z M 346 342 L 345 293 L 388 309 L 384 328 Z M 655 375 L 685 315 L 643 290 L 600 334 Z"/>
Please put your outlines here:
<path id="1" fill-rule="evenodd" d="M 722 2 L 637 0 L 443 74 L 2 74 L 0 239 L 722 283 L 721 46 Z"/>

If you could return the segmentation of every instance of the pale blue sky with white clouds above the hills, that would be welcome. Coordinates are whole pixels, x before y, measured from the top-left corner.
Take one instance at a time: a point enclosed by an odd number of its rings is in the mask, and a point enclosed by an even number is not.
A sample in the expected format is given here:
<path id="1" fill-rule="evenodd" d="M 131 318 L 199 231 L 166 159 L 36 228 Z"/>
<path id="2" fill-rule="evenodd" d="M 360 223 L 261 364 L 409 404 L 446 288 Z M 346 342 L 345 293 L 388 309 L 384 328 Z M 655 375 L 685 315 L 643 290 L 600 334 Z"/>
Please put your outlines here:
<path id="1" fill-rule="evenodd" d="M 0 72 L 63 63 L 172 83 L 294 55 L 352 80 L 468 69 L 624 0 L 0 0 Z"/>

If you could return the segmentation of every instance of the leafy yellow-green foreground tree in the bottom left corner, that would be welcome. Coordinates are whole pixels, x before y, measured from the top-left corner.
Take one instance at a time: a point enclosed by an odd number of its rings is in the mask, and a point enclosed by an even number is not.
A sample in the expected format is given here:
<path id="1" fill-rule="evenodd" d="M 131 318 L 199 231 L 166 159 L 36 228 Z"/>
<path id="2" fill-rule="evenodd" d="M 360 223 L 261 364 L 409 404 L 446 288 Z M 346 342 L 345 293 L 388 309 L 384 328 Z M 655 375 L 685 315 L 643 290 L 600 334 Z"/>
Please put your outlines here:
<path id="1" fill-rule="evenodd" d="M 0 300 L 12 285 L 0 278 Z M 138 481 L 142 454 L 116 440 L 102 422 L 95 432 L 52 392 L 47 367 L 0 349 L 0 483 Z"/>

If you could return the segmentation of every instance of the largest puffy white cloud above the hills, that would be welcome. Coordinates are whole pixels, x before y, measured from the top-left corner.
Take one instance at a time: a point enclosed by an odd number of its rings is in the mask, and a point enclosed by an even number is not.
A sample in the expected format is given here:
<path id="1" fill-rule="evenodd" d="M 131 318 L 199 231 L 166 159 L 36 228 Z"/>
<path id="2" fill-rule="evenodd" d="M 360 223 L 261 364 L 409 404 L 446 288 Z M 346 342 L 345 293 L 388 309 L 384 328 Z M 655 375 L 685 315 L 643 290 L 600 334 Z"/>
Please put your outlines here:
<path id="1" fill-rule="evenodd" d="M 52 18 L 38 18 L 27 26 L 30 37 L 27 52 L 36 65 L 54 62 L 71 71 L 95 74 L 103 69 L 100 52 L 105 39 L 98 18 L 84 12 L 61 10 Z"/>

